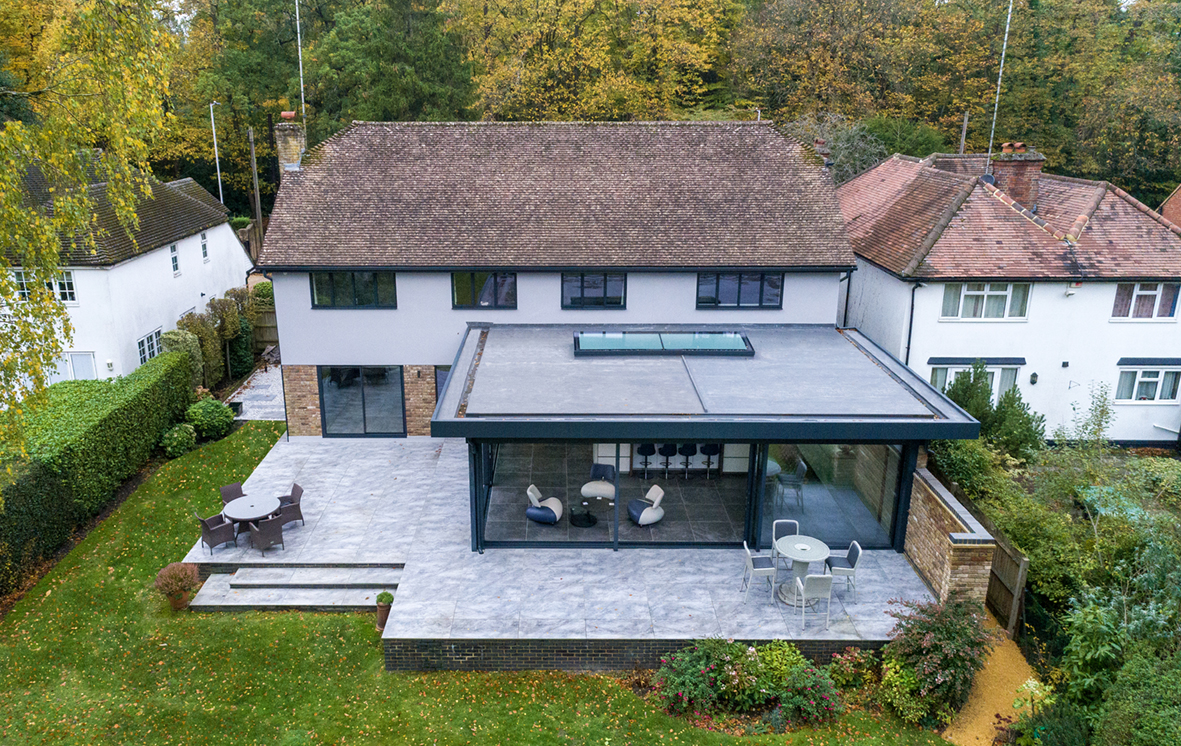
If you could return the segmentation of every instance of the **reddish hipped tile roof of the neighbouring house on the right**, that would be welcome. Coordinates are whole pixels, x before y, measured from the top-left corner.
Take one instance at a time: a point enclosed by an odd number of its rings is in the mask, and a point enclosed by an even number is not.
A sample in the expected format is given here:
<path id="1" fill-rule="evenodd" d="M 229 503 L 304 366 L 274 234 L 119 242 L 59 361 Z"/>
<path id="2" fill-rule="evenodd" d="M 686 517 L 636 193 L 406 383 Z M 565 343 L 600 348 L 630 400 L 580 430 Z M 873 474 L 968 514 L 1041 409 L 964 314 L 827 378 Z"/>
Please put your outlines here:
<path id="1" fill-rule="evenodd" d="M 1181 227 L 1108 182 L 1040 174 L 1037 211 L 983 156 L 894 156 L 837 189 L 854 251 L 916 279 L 1181 276 Z"/>

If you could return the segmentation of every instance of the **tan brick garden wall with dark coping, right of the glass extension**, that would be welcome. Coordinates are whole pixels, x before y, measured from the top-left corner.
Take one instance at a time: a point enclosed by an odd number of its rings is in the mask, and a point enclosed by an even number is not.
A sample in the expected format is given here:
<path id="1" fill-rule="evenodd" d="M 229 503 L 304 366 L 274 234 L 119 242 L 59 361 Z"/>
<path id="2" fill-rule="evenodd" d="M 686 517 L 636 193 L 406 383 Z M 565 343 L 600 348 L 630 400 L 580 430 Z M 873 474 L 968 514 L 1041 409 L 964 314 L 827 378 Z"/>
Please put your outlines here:
<path id="1" fill-rule="evenodd" d="M 914 472 L 906 554 L 940 600 L 961 590 L 981 603 L 996 543 L 925 467 Z"/>

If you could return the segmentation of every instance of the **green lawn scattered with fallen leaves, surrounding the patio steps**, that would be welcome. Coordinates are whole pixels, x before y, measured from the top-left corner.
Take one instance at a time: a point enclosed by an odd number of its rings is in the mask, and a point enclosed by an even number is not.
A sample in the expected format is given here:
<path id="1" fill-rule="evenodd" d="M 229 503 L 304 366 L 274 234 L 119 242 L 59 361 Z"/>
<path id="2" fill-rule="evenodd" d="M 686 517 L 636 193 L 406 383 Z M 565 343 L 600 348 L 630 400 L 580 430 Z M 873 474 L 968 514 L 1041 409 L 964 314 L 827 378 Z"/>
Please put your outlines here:
<path id="1" fill-rule="evenodd" d="M 866 713 L 731 738 L 608 676 L 387 674 L 371 615 L 174 614 L 152 581 L 193 510 L 280 433 L 250 423 L 163 466 L 0 623 L 0 744 L 944 744 Z"/>

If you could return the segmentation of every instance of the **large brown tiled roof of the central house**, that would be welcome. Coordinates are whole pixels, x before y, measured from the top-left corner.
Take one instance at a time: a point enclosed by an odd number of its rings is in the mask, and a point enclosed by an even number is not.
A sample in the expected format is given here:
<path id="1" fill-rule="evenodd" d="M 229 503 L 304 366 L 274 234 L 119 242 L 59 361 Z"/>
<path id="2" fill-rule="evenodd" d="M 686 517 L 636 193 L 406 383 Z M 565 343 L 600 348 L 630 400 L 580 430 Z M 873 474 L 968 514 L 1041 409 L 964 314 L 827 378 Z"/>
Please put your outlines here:
<path id="1" fill-rule="evenodd" d="M 353 123 L 286 171 L 265 267 L 849 267 L 769 123 Z"/>

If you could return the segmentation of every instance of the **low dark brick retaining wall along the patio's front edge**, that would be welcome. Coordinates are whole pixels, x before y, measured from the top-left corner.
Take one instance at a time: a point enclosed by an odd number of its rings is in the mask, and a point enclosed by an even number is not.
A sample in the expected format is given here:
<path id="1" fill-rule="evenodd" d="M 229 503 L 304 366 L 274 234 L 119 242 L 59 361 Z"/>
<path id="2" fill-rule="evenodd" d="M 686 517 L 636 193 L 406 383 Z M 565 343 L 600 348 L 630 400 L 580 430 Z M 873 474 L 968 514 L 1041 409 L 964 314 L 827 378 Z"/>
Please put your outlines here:
<path id="1" fill-rule="evenodd" d="M 752 644 L 761 641 L 749 641 Z M 876 650 L 885 640 L 792 640 L 828 663 L 847 647 Z M 657 668 L 692 640 L 383 640 L 386 670 L 631 670 Z"/>

